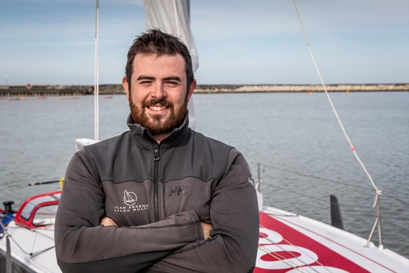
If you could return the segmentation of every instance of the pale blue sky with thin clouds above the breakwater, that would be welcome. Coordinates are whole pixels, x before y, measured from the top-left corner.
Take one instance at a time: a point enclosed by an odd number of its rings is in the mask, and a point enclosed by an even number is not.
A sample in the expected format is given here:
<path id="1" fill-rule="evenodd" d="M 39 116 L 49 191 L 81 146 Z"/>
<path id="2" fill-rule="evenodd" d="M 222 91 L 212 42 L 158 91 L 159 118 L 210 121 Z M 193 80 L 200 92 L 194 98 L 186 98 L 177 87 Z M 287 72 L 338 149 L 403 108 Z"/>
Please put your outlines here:
<path id="1" fill-rule="evenodd" d="M 298 1 L 327 83 L 409 82 L 409 1 Z M 100 1 L 100 83 L 120 83 L 143 2 Z M 93 85 L 95 1 L 0 0 L 0 85 Z M 319 83 L 291 1 L 191 1 L 199 84 Z"/>

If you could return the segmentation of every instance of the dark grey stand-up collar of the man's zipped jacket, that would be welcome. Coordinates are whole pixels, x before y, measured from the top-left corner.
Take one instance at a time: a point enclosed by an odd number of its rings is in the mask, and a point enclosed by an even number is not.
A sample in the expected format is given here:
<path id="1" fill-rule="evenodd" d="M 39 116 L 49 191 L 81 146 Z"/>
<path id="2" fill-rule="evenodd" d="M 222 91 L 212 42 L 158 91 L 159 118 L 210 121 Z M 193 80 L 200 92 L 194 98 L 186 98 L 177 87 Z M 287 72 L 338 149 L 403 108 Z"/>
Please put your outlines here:
<path id="1" fill-rule="evenodd" d="M 153 138 L 149 130 L 143 127 L 141 124 L 135 123 L 131 114 L 129 114 L 126 123 L 128 124 L 133 138 L 142 149 L 151 150 L 152 143 L 157 145 L 156 140 Z M 185 120 L 180 127 L 174 129 L 167 138 L 161 141 L 161 148 L 166 149 L 176 146 L 180 141 L 188 137 L 189 131 L 189 112 L 186 112 Z"/>

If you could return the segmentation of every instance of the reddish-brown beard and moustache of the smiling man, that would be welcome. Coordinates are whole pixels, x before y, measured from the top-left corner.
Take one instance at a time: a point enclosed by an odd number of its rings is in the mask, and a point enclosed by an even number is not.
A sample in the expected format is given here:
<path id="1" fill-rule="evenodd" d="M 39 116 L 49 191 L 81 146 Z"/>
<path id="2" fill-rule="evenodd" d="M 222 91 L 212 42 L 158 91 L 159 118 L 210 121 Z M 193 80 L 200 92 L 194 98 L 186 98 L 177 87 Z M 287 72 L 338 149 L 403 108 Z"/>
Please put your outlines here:
<path id="1" fill-rule="evenodd" d="M 161 115 L 150 115 L 153 119 L 153 122 L 149 120 L 146 113 L 146 107 L 154 106 L 155 104 L 160 103 L 162 106 L 168 107 L 170 111 L 170 116 L 166 119 Z M 175 109 L 173 103 L 166 100 L 165 97 L 162 99 L 151 99 L 150 101 L 144 101 L 142 104 L 142 109 L 139 108 L 132 101 L 132 96 L 129 96 L 129 108 L 131 110 L 131 115 L 135 123 L 138 123 L 149 130 L 151 134 L 163 134 L 170 133 L 174 129 L 179 128 L 185 120 L 187 113 L 188 100 L 187 96 L 184 104 L 180 109 Z"/>

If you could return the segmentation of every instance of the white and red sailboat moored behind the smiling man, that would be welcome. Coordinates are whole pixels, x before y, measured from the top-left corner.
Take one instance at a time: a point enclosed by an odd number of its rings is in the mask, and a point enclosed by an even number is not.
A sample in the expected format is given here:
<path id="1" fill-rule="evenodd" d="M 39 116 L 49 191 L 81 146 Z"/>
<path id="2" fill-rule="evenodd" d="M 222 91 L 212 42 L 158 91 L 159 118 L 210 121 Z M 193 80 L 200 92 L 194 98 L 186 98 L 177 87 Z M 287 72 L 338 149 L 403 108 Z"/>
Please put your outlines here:
<path id="1" fill-rule="evenodd" d="M 98 5 L 96 10 L 98 56 Z M 198 58 L 190 30 L 189 10 L 189 1 L 145 2 L 147 28 L 159 28 L 179 36 L 189 47 L 194 68 L 197 69 Z M 311 52 L 308 39 L 306 41 Z M 314 65 L 316 66 L 315 61 Z M 98 141 L 98 73 L 95 91 L 95 138 L 77 139 L 77 149 Z M 190 114 L 193 113 L 190 109 Z M 353 148 L 352 143 L 351 146 Z M 409 272 L 408 259 L 383 248 L 379 215 L 380 192 L 377 188 L 376 190 L 375 207 L 378 218 L 368 239 L 346 232 L 339 223 L 328 225 L 263 205 L 263 196 L 258 191 L 260 235 L 254 272 Z M 7 226 L 6 221 L 2 224 L 6 236 L 0 240 L 0 250 L 6 255 L 9 253 L 15 264 L 29 272 L 60 271 L 53 249 L 53 221 L 59 195 L 60 192 L 53 192 L 31 197 L 21 205 L 16 214 L 11 209 L 6 209 L 3 214 L 8 223 Z M 136 198 L 132 192 L 124 192 L 125 203 L 130 204 Z M 379 228 L 379 246 L 371 241 L 376 227 Z M 9 240 L 9 244 L 5 239 Z"/>

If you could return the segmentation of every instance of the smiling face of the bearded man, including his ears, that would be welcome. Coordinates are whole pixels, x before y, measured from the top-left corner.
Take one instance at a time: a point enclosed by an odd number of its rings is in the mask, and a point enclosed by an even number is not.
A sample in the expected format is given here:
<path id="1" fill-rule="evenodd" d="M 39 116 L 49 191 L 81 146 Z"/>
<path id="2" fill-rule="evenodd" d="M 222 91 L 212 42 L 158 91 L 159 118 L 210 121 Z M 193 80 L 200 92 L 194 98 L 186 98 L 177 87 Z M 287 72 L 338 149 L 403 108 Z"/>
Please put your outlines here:
<path id="1" fill-rule="evenodd" d="M 133 60 L 131 86 L 122 80 L 136 123 L 152 134 L 169 133 L 180 127 L 196 87 L 187 86 L 185 59 L 180 54 L 137 54 Z"/>

